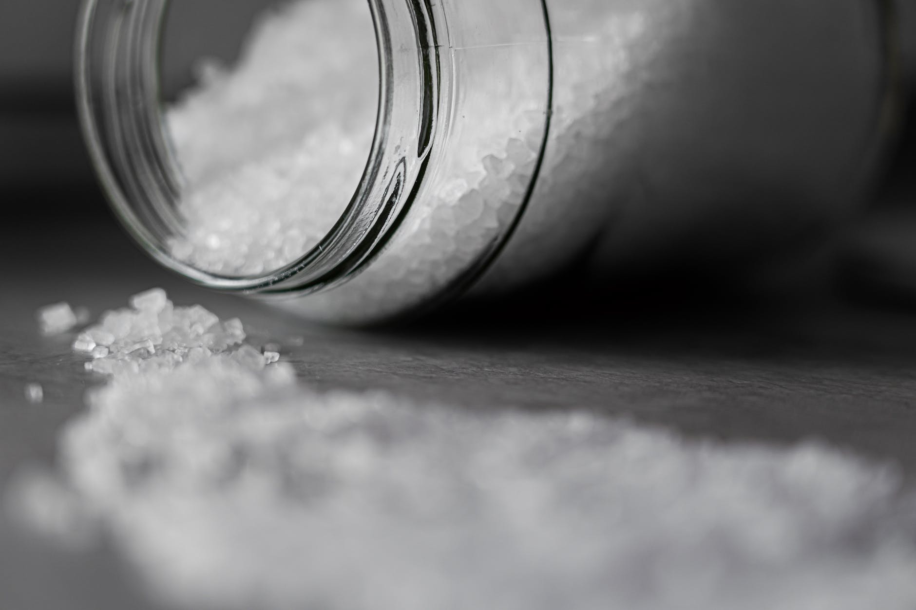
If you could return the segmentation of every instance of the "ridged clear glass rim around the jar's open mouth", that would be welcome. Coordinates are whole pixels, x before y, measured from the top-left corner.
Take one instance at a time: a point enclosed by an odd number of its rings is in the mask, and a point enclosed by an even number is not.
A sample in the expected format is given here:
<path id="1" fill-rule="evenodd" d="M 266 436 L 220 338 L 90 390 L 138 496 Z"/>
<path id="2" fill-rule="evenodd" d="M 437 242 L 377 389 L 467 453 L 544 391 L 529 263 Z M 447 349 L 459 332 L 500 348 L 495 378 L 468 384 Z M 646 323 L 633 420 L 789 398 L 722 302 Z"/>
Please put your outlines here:
<path id="1" fill-rule="evenodd" d="M 415 6 L 420 3 L 367 2 L 376 35 L 378 93 L 372 143 L 358 185 L 333 226 L 308 251 L 277 268 L 232 275 L 191 264 L 175 249 L 188 228 L 181 212 L 187 180 L 160 103 L 160 46 L 169 4 L 87 0 L 82 5 L 79 113 L 116 216 L 161 265 L 208 288 L 302 293 L 344 281 L 385 245 L 424 171 L 429 142 L 426 147 L 423 142 L 433 132 L 438 107 L 437 79 L 430 73 L 434 64 L 423 52 L 435 44 L 424 39 L 434 32 L 431 16 Z M 403 144 L 418 141 L 419 149 Z"/>

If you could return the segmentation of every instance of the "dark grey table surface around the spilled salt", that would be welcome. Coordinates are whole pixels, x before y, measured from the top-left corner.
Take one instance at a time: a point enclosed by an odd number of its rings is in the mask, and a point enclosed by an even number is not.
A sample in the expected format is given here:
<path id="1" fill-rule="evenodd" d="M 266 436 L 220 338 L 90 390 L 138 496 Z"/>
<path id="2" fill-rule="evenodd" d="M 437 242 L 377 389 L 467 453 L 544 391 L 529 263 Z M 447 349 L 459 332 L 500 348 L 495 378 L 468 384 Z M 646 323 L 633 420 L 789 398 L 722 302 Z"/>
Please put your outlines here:
<path id="1" fill-rule="evenodd" d="M 916 317 L 825 300 L 747 313 L 332 330 L 192 287 L 147 261 L 113 223 L 5 233 L 0 485 L 24 464 L 53 462 L 57 432 L 91 383 L 70 338 L 38 335 L 35 310 L 68 300 L 98 315 L 153 286 L 239 316 L 261 336 L 304 337 L 285 357 L 319 387 L 387 388 L 465 408 L 594 408 L 723 441 L 816 437 L 899 463 L 916 480 Z M 42 404 L 27 403 L 30 382 L 45 388 Z M 0 520 L 0 608 L 146 607 L 154 605 L 114 552 L 56 549 Z"/>

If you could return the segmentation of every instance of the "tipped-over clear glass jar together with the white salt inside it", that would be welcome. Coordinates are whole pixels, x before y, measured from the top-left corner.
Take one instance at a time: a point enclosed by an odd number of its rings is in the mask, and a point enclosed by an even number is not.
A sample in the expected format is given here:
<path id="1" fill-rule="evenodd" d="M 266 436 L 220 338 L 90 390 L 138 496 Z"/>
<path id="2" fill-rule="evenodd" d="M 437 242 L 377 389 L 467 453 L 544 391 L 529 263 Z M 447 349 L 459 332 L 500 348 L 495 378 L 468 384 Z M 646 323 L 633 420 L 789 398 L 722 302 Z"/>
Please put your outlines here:
<path id="1" fill-rule="evenodd" d="M 173 4 L 83 5 L 114 211 L 162 265 L 311 320 L 570 267 L 752 275 L 848 222 L 900 106 L 880 0 L 297 0 L 165 103 Z"/>

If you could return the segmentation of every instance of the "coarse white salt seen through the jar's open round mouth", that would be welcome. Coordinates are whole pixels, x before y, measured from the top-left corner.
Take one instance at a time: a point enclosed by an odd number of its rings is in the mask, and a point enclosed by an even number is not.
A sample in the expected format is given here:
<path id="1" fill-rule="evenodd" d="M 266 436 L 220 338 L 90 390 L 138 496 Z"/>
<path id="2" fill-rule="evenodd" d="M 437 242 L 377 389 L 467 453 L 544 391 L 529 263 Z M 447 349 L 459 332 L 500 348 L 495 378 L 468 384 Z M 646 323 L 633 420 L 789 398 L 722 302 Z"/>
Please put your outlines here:
<path id="1" fill-rule="evenodd" d="M 375 132 L 375 29 L 361 0 L 284 6 L 232 73 L 209 71 L 169 111 L 188 181 L 183 261 L 260 275 L 304 256 L 337 222 Z"/>

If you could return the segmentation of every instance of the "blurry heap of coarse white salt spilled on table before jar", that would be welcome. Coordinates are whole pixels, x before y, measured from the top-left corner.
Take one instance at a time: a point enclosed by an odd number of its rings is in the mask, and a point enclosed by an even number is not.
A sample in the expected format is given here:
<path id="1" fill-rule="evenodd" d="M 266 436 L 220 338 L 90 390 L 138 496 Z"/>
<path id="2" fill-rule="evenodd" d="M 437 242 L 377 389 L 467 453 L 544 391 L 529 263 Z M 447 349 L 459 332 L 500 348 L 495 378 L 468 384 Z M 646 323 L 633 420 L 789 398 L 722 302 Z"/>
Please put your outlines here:
<path id="1" fill-rule="evenodd" d="M 916 501 L 888 466 L 575 408 L 317 392 L 252 345 L 204 346 L 206 310 L 166 309 L 104 316 L 132 330 L 87 363 L 108 379 L 61 434 L 60 473 L 7 496 L 64 542 L 97 522 L 168 604 L 916 607 Z"/>

